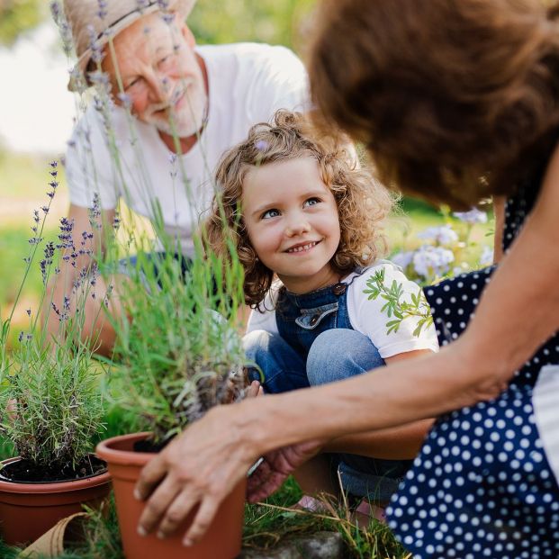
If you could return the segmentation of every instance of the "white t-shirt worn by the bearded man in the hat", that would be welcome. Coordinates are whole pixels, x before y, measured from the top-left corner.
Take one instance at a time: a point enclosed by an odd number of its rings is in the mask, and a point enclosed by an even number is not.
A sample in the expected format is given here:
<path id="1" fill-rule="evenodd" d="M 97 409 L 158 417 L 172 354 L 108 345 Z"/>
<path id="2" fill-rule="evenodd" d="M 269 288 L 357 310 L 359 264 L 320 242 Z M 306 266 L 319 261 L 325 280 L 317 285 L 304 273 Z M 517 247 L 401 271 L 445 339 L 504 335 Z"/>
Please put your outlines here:
<path id="1" fill-rule="evenodd" d="M 186 254 L 192 252 L 201 214 L 210 207 L 213 175 L 224 151 L 244 140 L 253 124 L 269 122 L 276 110 L 304 111 L 308 99 L 302 62 L 284 47 L 238 43 L 202 46 L 196 52 L 207 68 L 209 113 L 200 140 L 188 153 L 175 157 L 154 126 L 117 106 L 106 127 L 91 104 L 66 155 L 71 203 L 90 208 L 97 193 L 101 208 L 110 210 L 122 197 L 134 212 L 151 218 L 157 198 L 165 230 L 180 240 Z"/>

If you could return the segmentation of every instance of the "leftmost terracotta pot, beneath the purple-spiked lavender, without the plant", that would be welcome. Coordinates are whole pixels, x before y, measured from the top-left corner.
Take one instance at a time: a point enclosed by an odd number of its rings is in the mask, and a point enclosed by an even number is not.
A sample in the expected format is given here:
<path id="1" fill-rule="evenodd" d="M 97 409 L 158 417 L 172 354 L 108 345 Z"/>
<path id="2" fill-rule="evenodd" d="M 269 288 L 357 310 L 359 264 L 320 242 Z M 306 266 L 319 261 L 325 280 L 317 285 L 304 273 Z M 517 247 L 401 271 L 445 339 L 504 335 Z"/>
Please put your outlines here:
<path id="1" fill-rule="evenodd" d="M 10 458 L 2 464 L 11 464 Z M 33 541 L 61 518 L 95 507 L 111 491 L 108 472 L 67 482 L 9 482 L 0 480 L 0 531 L 8 545 Z"/>

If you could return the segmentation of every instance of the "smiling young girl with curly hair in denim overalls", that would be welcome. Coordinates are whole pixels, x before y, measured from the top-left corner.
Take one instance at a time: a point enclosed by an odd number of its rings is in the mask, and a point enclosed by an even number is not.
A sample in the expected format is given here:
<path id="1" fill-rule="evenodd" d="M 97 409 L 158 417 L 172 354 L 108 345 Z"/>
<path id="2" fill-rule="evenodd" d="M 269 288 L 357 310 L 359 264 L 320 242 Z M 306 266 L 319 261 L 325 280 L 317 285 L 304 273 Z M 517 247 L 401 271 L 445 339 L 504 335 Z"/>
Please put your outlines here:
<path id="1" fill-rule="evenodd" d="M 386 300 L 369 297 L 367 282 L 378 272 L 386 286 L 401 284 L 402 301 L 419 286 L 378 259 L 385 245 L 379 226 L 392 198 L 347 149 L 313 138 L 300 115 L 279 112 L 222 158 L 217 182 L 223 209 L 214 203 L 208 234 L 212 248 L 226 254 L 224 211 L 253 307 L 245 348 L 265 392 L 331 383 L 437 351 L 433 328 L 413 335 L 417 320 L 387 334 Z M 337 456 L 347 491 L 389 500 L 426 428 L 428 422 L 410 425 L 384 441 L 375 458 L 385 459 Z M 322 482 L 310 484 L 316 467 L 309 470 L 302 485 L 318 490 Z"/>

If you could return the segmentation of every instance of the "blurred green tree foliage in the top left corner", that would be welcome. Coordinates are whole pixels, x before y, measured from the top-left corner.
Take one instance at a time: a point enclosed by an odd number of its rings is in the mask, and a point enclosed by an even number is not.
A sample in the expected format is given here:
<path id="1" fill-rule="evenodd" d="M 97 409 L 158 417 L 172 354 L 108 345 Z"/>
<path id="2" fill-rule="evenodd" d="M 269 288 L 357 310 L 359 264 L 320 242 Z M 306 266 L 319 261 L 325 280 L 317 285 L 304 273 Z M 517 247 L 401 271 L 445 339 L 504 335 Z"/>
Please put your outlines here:
<path id="1" fill-rule="evenodd" d="M 11 47 L 21 33 L 41 23 L 47 7 L 45 0 L 0 0 L 0 46 Z"/>

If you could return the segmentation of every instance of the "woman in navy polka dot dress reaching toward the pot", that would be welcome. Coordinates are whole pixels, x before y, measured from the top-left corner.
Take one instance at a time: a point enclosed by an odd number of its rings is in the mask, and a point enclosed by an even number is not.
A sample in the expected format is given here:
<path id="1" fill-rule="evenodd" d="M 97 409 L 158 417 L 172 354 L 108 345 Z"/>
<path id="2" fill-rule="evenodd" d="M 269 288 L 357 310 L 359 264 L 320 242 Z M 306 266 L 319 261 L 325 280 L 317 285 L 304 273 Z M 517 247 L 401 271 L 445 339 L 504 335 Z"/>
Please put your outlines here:
<path id="1" fill-rule="evenodd" d="M 144 529 L 161 521 L 165 534 L 201 502 L 186 535 L 199 537 L 258 455 L 253 500 L 321 447 L 363 448 L 371 433 L 439 416 L 389 509 L 404 545 L 417 559 L 559 556 L 557 12 L 541 0 L 323 2 L 310 60 L 322 120 L 364 142 L 387 185 L 455 207 L 505 196 L 504 256 L 489 283 L 437 287 L 458 334 L 437 354 L 222 407 L 186 429 L 140 481 L 140 497 L 161 482 Z M 447 303 L 465 297 L 473 320 L 445 307 L 453 290 Z"/>

